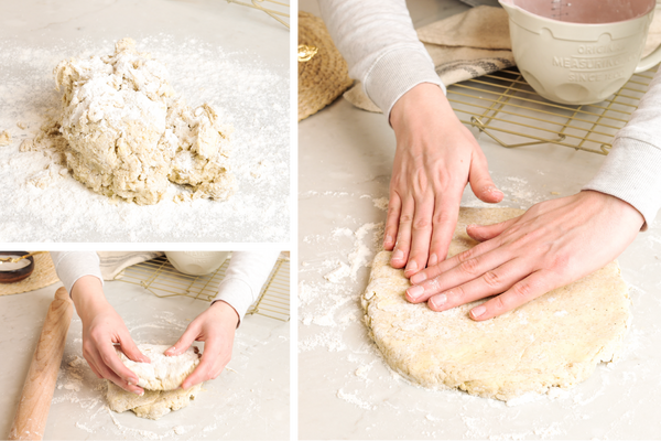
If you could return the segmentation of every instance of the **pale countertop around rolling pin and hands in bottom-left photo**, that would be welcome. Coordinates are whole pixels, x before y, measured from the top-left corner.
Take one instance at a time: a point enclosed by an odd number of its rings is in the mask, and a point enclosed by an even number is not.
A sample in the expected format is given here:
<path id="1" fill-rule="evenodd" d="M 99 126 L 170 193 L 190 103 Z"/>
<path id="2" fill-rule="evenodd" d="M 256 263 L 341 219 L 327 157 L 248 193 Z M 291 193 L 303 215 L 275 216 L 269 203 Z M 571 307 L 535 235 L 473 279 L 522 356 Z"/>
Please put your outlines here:
<path id="1" fill-rule="evenodd" d="M 0 439 L 9 433 L 46 311 L 59 286 L 0 297 Z M 156 298 L 121 281 L 106 282 L 104 291 L 138 343 L 176 342 L 207 308 L 194 299 Z M 74 313 L 44 439 L 291 440 L 292 344 L 292 322 L 246 316 L 228 368 L 205 383 L 189 407 L 152 421 L 107 409 L 105 380 L 97 379 L 83 358 L 82 323 Z"/>

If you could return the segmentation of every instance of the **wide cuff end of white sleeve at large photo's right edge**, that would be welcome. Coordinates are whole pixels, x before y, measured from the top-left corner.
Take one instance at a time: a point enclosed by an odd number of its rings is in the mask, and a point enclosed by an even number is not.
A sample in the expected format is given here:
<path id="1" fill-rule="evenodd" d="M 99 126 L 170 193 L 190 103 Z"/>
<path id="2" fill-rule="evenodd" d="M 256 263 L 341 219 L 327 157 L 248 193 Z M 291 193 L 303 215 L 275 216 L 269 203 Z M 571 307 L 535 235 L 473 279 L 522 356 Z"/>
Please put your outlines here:
<path id="1" fill-rule="evenodd" d="M 642 214 L 646 230 L 661 207 L 661 149 L 637 139 L 616 137 L 604 164 L 583 190 L 610 194 Z"/>

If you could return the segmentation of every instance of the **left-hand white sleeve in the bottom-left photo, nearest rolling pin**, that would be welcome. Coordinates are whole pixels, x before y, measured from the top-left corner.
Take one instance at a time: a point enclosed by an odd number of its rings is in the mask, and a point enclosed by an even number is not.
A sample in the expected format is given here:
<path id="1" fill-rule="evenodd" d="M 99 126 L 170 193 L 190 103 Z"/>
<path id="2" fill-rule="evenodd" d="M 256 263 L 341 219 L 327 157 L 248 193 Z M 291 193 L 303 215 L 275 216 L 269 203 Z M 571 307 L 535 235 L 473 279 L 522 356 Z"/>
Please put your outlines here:
<path id="1" fill-rule="evenodd" d="M 72 288 L 83 276 L 94 276 L 104 284 L 99 269 L 99 256 L 94 248 L 51 248 L 51 258 L 57 277 L 72 294 Z"/>

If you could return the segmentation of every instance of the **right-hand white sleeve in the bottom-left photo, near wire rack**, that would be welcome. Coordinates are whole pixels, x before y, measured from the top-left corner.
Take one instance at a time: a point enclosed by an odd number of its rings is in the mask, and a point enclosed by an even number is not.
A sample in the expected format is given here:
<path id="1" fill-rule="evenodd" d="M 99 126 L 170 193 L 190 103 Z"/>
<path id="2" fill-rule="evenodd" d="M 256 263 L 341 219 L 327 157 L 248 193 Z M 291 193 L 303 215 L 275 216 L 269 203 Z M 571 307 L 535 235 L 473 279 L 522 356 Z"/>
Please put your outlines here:
<path id="1" fill-rule="evenodd" d="M 225 278 L 213 302 L 223 300 L 243 320 L 248 308 L 257 300 L 271 273 L 280 248 L 234 248 Z"/>

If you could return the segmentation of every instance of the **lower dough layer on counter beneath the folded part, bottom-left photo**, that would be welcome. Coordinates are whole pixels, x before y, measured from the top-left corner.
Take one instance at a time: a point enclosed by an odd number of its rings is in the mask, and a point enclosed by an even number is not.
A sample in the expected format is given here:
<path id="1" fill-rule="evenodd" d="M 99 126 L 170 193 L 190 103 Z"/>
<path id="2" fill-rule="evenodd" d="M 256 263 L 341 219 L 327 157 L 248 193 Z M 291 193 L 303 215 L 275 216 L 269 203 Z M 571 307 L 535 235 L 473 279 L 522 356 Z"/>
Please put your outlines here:
<path id="1" fill-rule="evenodd" d="M 188 406 L 195 399 L 202 388 L 202 384 L 195 385 L 187 390 L 144 390 L 142 397 L 127 392 L 113 383 L 108 384 L 108 406 L 116 412 L 132 410 L 140 418 L 158 420 L 172 410 L 178 410 Z"/>

